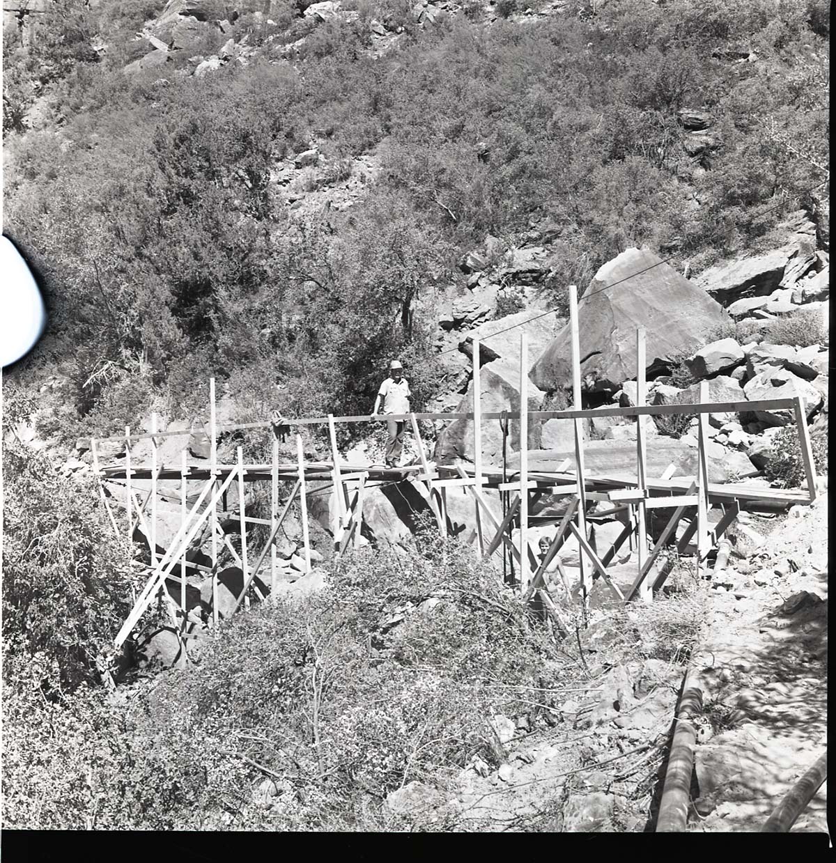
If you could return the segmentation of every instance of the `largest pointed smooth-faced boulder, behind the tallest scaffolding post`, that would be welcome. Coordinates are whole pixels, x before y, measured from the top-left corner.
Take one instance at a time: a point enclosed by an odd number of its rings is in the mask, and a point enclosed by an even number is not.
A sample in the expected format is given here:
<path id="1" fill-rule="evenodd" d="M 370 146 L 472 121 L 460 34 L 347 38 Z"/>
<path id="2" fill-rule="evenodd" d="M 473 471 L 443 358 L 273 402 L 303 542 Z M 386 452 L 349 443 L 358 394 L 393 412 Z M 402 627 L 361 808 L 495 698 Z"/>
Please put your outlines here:
<path id="1" fill-rule="evenodd" d="M 617 390 L 636 377 L 636 329 L 646 330 L 647 372 L 691 353 L 728 315 L 714 299 L 654 255 L 627 249 L 595 274 L 578 303 L 581 378 L 588 391 Z M 569 324 L 531 369 L 547 392 L 571 386 Z"/>

